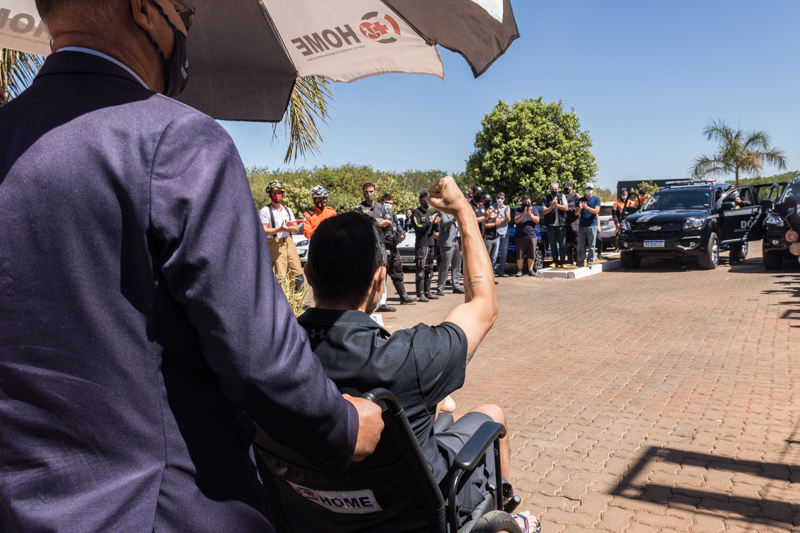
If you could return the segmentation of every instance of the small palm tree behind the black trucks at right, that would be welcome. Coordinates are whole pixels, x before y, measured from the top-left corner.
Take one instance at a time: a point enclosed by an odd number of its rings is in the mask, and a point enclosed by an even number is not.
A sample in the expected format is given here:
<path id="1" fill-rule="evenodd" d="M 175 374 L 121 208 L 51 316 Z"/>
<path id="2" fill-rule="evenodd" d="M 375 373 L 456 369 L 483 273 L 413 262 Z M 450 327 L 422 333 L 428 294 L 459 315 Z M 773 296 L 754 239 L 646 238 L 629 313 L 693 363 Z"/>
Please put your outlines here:
<path id="1" fill-rule="evenodd" d="M 707 140 L 719 142 L 711 156 L 695 159 L 690 169 L 696 178 L 714 174 L 733 174 L 739 186 L 739 174 L 758 175 L 764 163 L 786 168 L 786 155 L 780 148 L 771 146 L 771 139 L 763 131 L 734 130 L 724 120 L 712 120 L 703 129 Z"/>

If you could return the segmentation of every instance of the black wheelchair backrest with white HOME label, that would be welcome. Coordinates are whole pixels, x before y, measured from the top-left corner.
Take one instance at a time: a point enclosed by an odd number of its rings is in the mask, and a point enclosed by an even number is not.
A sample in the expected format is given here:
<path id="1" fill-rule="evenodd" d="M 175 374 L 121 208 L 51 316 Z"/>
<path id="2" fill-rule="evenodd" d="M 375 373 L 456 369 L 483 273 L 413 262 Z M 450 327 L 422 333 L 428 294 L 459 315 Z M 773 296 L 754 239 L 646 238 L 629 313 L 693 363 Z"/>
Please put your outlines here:
<path id="1" fill-rule="evenodd" d="M 402 407 L 385 390 L 372 399 L 386 403 L 378 447 L 336 479 L 258 428 L 253 447 L 279 533 L 446 531 L 441 491 Z"/>

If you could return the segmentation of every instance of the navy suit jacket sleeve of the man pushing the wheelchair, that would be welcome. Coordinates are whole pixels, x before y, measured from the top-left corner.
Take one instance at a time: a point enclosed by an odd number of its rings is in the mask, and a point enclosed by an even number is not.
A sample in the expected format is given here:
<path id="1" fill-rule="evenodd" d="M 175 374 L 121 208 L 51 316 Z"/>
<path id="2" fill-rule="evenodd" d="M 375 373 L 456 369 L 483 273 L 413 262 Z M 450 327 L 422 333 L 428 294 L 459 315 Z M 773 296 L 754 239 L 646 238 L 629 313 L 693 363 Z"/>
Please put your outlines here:
<path id="1" fill-rule="evenodd" d="M 191 140 L 191 142 L 187 142 Z M 187 112 L 154 156 L 155 268 L 197 329 L 228 400 L 331 475 L 352 460 L 355 408 L 326 376 L 272 272 L 244 166 L 213 119 Z"/>

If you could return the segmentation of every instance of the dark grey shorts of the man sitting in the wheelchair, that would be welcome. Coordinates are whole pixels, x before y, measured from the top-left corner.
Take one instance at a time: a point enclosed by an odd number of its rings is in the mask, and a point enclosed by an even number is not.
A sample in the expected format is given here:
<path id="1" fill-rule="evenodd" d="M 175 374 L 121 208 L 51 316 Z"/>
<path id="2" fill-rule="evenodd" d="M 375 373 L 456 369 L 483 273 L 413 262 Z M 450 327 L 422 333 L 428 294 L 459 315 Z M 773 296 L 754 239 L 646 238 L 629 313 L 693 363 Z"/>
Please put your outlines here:
<path id="1" fill-rule="evenodd" d="M 444 453 L 448 465 L 453 464 L 458 452 L 484 422 L 493 422 L 492 417 L 484 413 L 467 413 L 445 431 L 436 434 L 439 449 Z M 486 498 L 486 495 L 489 494 L 489 485 L 495 484 L 496 470 L 492 450 L 493 448 L 489 448 L 458 492 L 456 501 L 459 507 L 459 525 L 464 524 L 470 513 Z M 487 457 L 490 460 L 487 460 Z M 447 494 L 450 492 L 449 475 L 439 483 L 439 488 L 447 499 Z"/>

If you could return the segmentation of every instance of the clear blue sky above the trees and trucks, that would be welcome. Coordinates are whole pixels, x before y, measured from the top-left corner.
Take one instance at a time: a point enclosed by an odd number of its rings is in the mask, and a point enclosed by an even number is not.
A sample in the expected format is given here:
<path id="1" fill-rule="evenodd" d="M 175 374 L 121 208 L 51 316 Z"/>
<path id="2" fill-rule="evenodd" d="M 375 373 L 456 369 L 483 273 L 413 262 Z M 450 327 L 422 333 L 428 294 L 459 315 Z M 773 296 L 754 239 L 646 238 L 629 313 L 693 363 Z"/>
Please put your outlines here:
<path id="1" fill-rule="evenodd" d="M 499 101 L 575 106 L 601 186 L 684 178 L 714 144 L 709 119 L 765 130 L 800 170 L 800 2 L 512 0 L 517 39 L 483 76 L 440 49 L 445 80 L 387 74 L 334 84 L 323 152 L 297 167 L 464 170 Z M 225 122 L 246 166 L 284 165 L 282 129 Z M 764 175 L 776 173 L 768 168 Z"/>

